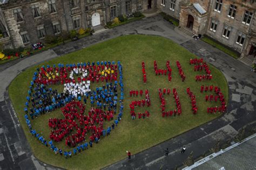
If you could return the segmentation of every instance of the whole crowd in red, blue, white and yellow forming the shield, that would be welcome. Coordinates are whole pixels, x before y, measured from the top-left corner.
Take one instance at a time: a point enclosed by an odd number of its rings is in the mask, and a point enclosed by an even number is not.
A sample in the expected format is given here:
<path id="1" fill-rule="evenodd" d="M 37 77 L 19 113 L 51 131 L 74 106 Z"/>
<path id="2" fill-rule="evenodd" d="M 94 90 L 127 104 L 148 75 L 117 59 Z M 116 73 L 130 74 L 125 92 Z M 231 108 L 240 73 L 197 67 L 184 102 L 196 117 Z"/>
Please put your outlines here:
<path id="1" fill-rule="evenodd" d="M 111 130 L 114 129 L 114 126 L 117 126 L 123 115 L 123 99 L 124 99 L 124 87 L 123 87 L 123 69 L 120 62 L 117 65 L 112 62 L 97 62 L 96 69 L 95 64 L 92 63 L 78 63 L 77 65 L 66 65 L 68 68 L 64 67 L 63 64 L 59 64 L 57 67 L 49 65 L 41 69 L 37 69 L 37 72 L 33 74 L 33 79 L 30 83 L 28 90 L 28 96 L 26 97 L 26 103 L 24 107 L 25 111 L 25 120 L 28 125 L 32 135 L 42 142 L 46 147 L 48 144 L 52 151 L 56 154 L 62 155 L 66 158 L 71 157 L 72 154 L 76 154 L 84 149 L 91 146 L 93 143 L 97 143 L 101 137 L 110 135 Z M 106 83 L 106 86 L 97 87 L 96 91 L 91 90 L 90 86 L 85 94 L 78 93 L 77 96 L 74 95 L 69 90 L 65 89 L 64 92 L 58 93 L 57 90 L 52 90 L 48 88 L 47 85 L 52 85 L 56 83 L 64 83 L 60 80 L 65 80 L 65 82 L 73 83 L 76 87 L 75 90 L 78 90 L 79 85 L 76 83 L 82 83 L 85 81 L 91 81 L 92 83 L 96 80 L 99 74 L 96 73 L 98 68 L 103 68 L 100 73 L 100 77 L 104 77 L 103 81 L 110 81 Z M 106 69 L 107 68 L 107 69 Z M 81 70 L 81 72 L 79 71 Z M 87 70 L 86 71 L 83 69 Z M 67 71 L 68 70 L 68 71 Z M 113 70 L 113 71 L 112 71 Z M 119 71 L 119 80 L 117 80 L 117 72 Z M 68 72 L 70 72 L 68 78 Z M 57 79 L 57 77 L 61 77 Z M 79 76 L 81 81 L 75 80 L 75 76 Z M 111 78 L 111 77 L 116 78 Z M 53 83 L 52 80 L 55 80 Z M 96 82 L 98 82 L 96 80 Z M 90 83 L 89 83 L 90 84 Z M 120 86 L 120 100 L 119 100 L 119 113 L 114 118 L 114 115 L 117 113 L 118 105 L 118 94 L 117 86 Z M 65 85 L 68 86 L 68 85 Z M 82 97 L 84 104 L 86 105 L 86 100 L 90 98 L 91 101 L 91 110 L 89 114 L 85 115 L 85 105 L 82 103 Z M 50 118 L 48 125 L 52 128 L 50 133 L 51 141 L 47 142 L 45 138 L 36 130 L 33 130 L 30 121 L 39 115 L 49 113 L 53 110 L 60 108 L 64 115 L 64 119 Z M 29 118 L 30 115 L 30 118 Z M 103 129 L 103 121 L 113 121 L 113 124 L 106 129 Z M 111 128 L 112 127 L 112 128 Z M 76 131 L 75 133 L 73 131 Z M 86 141 L 86 136 L 89 135 L 89 144 Z M 59 142 L 65 138 L 67 146 L 74 147 L 72 151 L 62 151 L 62 149 L 57 148 L 53 141 Z"/>

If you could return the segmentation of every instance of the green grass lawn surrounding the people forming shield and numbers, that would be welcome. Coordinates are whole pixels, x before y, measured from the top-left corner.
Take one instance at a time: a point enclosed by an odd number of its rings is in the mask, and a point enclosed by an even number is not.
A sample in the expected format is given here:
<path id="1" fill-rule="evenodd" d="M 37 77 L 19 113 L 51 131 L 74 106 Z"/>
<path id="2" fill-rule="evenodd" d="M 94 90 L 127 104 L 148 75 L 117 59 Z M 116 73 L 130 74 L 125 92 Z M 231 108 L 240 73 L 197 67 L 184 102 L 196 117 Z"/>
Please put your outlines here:
<path id="1" fill-rule="evenodd" d="M 120 124 L 111 132 L 110 137 L 102 138 L 98 144 L 93 145 L 93 148 L 81 152 L 71 159 L 65 159 L 64 157 L 55 155 L 49 148 L 40 144 L 36 138 L 31 136 L 25 124 L 23 107 L 30 80 L 36 68 L 43 64 L 33 66 L 19 74 L 9 86 L 9 94 L 18 118 L 24 128 L 26 138 L 38 159 L 47 164 L 67 169 L 99 169 L 126 158 L 126 150 L 130 150 L 132 154 L 138 153 L 220 116 L 220 114 L 207 114 L 207 107 L 215 106 L 216 104 L 205 102 L 206 93 L 200 93 L 200 86 L 201 84 L 217 85 L 227 99 L 228 88 L 226 79 L 219 70 L 209 64 L 213 79 L 201 83 L 196 82 L 194 77 L 198 72 L 194 72 L 193 66 L 189 64 L 190 58 L 193 57 L 195 56 L 192 53 L 169 39 L 157 36 L 130 35 L 107 40 L 106 42 L 86 47 L 83 50 L 43 63 L 44 65 L 58 63 L 65 65 L 67 63 L 97 62 L 97 60 L 120 60 L 123 65 L 125 110 Z M 146 85 L 143 84 L 142 80 L 141 64 L 143 60 L 147 72 L 148 82 Z M 168 82 L 167 76 L 155 76 L 153 69 L 154 60 L 157 60 L 159 69 L 164 69 L 166 67 L 166 60 L 170 60 L 173 74 L 171 83 Z M 184 82 L 181 81 L 179 76 L 176 60 L 179 60 L 186 74 L 186 80 Z M 94 88 L 95 86 L 93 85 Z M 192 114 L 190 99 L 188 99 L 186 94 L 186 87 L 188 86 L 196 94 L 199 108 L 198 114 L 196 115 Z M 158 89 L 164 87 L 177 88 L 183 111 L 180 116 L 161 117 Z M 62 87 L 56 87 L 56 89 L 61 90 Z M 129 96 L 129 91 L 133 89 L 149 90 L 151 107 L 136 108 L 135 110 L 136 112 L 149 110 L 151 113 L 149 119 L 131 120 L 130 102 L 132 100 L 142 99 L 142 97 L 131 98 Z M 211 93 L 207 92 L 207 94 Z M 166 95 L 165 99 L 167 102 L 166 110 L 173 109 L 175 101 L 172 95 Z M 219 101 L 218 105 L 220 105 Z M 86 110 L 88 109 L 86 108 Z M 44 137 L 49 137 L 50 128 L 48 127 L 48 119 L 50 117 L 60 118 L 62 115 L 60 111 L 55 111 L 31 121 L 32 127 L 41 131 Z M 62 146 L 63 149 L 66 149 L 64 144 L 58 144 L 57 146 Z"/>

